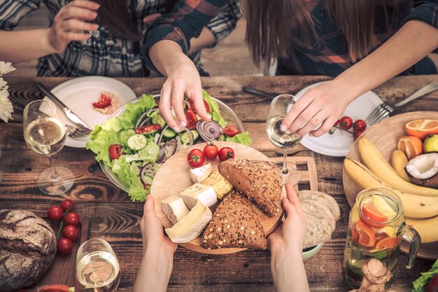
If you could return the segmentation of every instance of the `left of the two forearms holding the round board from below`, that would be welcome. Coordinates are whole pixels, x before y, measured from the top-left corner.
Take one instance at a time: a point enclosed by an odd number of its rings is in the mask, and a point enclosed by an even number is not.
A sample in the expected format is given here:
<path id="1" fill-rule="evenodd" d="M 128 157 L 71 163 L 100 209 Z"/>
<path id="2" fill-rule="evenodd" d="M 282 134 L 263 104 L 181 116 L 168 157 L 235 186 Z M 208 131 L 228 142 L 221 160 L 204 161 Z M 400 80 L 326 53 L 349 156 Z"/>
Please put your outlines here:
<path id="1" fill-rule="evenodd" d="M 155 214 L 155 200 L 146 197 L 140 229 L 143 238 L 143 257 L 134 283 L 134 292 L 165 292 L 174 266 L 177 245 L 163 233 L 163 226 Z"/>

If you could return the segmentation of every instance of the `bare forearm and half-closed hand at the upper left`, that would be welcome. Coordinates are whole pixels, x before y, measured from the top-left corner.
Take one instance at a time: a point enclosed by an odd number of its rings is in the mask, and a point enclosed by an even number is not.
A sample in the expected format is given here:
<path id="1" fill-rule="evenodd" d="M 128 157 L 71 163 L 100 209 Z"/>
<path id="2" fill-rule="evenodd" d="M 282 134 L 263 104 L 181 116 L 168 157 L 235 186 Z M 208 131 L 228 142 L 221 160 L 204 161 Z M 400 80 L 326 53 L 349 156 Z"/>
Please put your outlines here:
<path id="1" fill-rule="evenodd" d="M 0 59 L 8 60 L 8 62 L 34 60 L 45 55 L 62 53 L 70 41 L 89 39 L 91 35 L 82 31 L 94 31 L 98 26 L 85 20 L 94 20 L 97 17 L 98 8 L 99 4 L 93 1 L 75 0 L 59 10 L 52 26 L 48 29 L 13 32 L 0 30 L 0 39 L 8 40 L 0 46 Z M 18 6 L 15 6 L 15 9 L 17 15 L 25 12 L 24 8 L 20 9 Z M 12 14 L 15 15 L 15 13 Z M 12 15 L 10 17 L 8 15 L 0 15 L 1 18 L 8 19 L 2 23 L 1 29 L 13 29 L 20 20 L 17 17 L 10 19 Z"/>

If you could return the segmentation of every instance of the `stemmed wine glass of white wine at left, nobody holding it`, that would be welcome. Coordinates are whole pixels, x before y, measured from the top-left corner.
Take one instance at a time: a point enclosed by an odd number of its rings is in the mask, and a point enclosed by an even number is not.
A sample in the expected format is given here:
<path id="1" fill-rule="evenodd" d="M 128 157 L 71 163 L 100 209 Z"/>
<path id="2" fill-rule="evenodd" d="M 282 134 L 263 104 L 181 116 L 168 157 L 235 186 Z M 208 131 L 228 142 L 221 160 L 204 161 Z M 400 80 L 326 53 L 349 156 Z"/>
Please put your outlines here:
<path id="1" fill-rule="evenodd" d="M 55 167 L 52 155 L 64 147 L 65 125 L 57 107 L 40 99 L 27 104 L 23 111 L 24 140 L 32 151 L 45 155 L 50 168 L 38 176 L 38 188 L 47 195 L 60 195 L 73 186 L 73 174 L 65 167 Z"/>

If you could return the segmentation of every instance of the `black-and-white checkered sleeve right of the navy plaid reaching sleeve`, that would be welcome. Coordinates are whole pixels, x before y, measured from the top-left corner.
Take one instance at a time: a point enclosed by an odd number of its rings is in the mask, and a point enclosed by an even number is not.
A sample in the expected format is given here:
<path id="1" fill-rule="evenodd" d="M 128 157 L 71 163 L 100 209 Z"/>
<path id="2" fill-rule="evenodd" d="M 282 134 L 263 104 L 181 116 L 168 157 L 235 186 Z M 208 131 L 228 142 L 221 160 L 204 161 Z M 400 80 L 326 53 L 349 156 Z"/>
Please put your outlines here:
<path id="1" fill-rule="evenodd" d="M 216 46 L 218 41 L 231 34 L 234 28 L 236 28 L 237 20 L 242 17 L 242 13 L 239 8 L 239 2 L 240 0 L 229 0 L 227 5 L 220 8 L 220 11 L 216 17 L 213 18 L 208 25 L 206 25 L 206 27 L 216 38 L 216 43 L 213 43 L 213 45 L 209 46 L 209 48 Z"/>

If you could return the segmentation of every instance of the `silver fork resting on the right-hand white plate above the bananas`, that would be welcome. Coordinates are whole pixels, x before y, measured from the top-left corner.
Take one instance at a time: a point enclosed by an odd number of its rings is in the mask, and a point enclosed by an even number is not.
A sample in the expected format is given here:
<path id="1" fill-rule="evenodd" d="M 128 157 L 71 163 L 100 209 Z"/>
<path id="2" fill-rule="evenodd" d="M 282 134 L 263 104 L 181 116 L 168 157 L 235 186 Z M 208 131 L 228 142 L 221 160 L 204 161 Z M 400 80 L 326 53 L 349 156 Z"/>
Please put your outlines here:
<path id="1" fill-rule="evenodd" d="M 428 93 L 437 90 L 438 89 L 438 83 L 435 81 L 432 81 L 428 85 L 423 86 L 416 92 L 414 92 L 413 95 L 407 97 L 406 99 L 403 99 L 401 102 L 391 105 L 386 104 L 383 102 L 383 104 L 379 105 L 374 109 L 372 113 L 369 114 L 368 118 L 365 120 L 367 125 L 373 125 L 384 118 L 388 117 L 390 113 L 395 111 L 395 109 L 399 106 L 404 106 L 404 104 L 407 104 L 408 102 L 412 102 L 414 99 L 418 99 L 418 97 L 422 97 L 423 95 L 427 95 Z"/>

